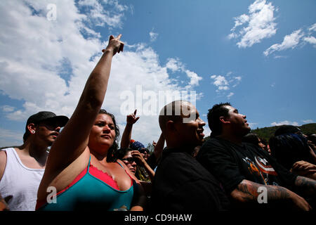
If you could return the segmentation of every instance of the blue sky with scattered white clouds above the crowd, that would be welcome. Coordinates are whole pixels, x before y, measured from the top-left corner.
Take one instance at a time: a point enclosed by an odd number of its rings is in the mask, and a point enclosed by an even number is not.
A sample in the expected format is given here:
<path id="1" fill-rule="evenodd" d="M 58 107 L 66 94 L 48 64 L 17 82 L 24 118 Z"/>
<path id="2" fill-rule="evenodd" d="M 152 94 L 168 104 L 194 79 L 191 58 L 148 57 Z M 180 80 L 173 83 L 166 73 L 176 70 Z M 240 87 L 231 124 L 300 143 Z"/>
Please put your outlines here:
<path id="1" fill-rule="evenodd" d="M 21 144 L 40 110 L 70 117 L 109 35 L 120 33 L 126 45 L 103 108 L 122 132 L 138 107 L 133 139 L 157 141 L 158 99 L 170 91 L 196 94 L 206 123 L 226 101 L 253 129 L 316 122 L 315 9 L 313 0 L 1 1 L 0 146 Z"/>

